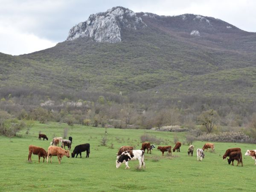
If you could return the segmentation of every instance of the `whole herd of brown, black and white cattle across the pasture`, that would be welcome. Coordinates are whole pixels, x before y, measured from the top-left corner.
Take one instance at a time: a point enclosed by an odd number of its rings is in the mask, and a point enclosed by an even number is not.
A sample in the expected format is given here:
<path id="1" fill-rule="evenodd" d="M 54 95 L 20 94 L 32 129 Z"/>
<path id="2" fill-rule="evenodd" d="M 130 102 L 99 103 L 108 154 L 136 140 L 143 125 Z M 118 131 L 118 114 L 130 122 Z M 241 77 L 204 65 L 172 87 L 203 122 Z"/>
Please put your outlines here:
<path id="1" fill-rule="evenodd" d="M 48 140 L 47 136 L 45 134 L 39 134 L 38 139 L 41 140 L 41 138 Z M 61 143 L 61 147 L 59 147 L 59 143 Z M 48 158 L 50 157 L 50 162 L 52 163 L 52 156 L 57 156 L 58 157 L 58 163 L 61 163 L 61 158 L 63 156 L 70 157 L 69 150 L 71 148 L 72 144 L 72 137 L 69 137 L 68 140 L 64 140 L 62 137 L 54 137 L 52 139 L 52 142 L 50 143 L 50 146 L 48 147 L 48 151 L 45 151 L 44 148 L 37 147 L 34 145 L 29 145 L 29 157 L 28 160 L 31 162 L 31 156 L 32 154 L 38 155 L 38 162 L 40 163 L 40 157 L 43 157 L 44 159 L 47 158 L 47 163 L 48 163 Z M 54 146 L 52 146 L 54 145 Z M 67 146 L 68 150 L 66 150 L 65 146 Z M 180 152 L 180 146 L 181 143 L 177 142 L 175 144 L 175 147 L 172 149 L 172 146 L 158 146 L 157 149 L 162 152 L 162 156 L 164 155 L 164 152 L 168 152 L 168 154 L 172 154 L 172 151 L 175 152 Z M 64 148 L 64 149 L 63 149 Z M 122 163 L 125 163 L 125 169 L 130 169 L 128 166 L 128 161 L 129 160 L 139 160 L 140 167 L 143 166 L 145 168 L 145 162 L 144 162 L 144 152 L 147 150 L 151 154 L 151 150 L 155 148 L 154 145 L 151 145 L 150 143 L 143 143 L 141 146 L 140 150 L 133 150 L 132 146 L 122 146 L 119 148 L 119 151 L 116 154 L 116 168 L 119 168 Z M 197 153 L 197 160 L 202 161 L 204 158 L 204 150 L 208 150 L 208 148 L 212 149 L 214 152 L 215 147 L 213 143 L 205 143 L 203 148 L 198 148 L 196 150 Z M 81 152 L 86 151 L 86 158 L 89 157 L 90 154 L 90 144 L 85 143 L 81 145 L 76 145 L 74 148 L 73 152 L 71 153 L 71 157 L 76 157 L 78 154 L 81 156 Z M 193 156 L 193 151 L 194 151 L 194 145 L 189 145 L 189 150 L 188 150 L 188 156 L 191 154 Z M 256 150 L 247 150 L 246 153 L 244 154 L 246 156 L 251 156 L 255 160 L 255 165 L 256 165 Z M 229 158 L 227 158 L 229 157 Z M 242 161 L 242 153 L 241 153 L 241 148 L 229 148 L 223 155 L 223 160 L 227 158 L 228 164 L 232 162 L 232 165 L 234 165 L 234 160 L 237 160 L 237 166 L 239 163 L 241 163 L 241 166 L 243 166 L 243 161 Z M 43 160 L 44 162 L 44 160 Z"/>

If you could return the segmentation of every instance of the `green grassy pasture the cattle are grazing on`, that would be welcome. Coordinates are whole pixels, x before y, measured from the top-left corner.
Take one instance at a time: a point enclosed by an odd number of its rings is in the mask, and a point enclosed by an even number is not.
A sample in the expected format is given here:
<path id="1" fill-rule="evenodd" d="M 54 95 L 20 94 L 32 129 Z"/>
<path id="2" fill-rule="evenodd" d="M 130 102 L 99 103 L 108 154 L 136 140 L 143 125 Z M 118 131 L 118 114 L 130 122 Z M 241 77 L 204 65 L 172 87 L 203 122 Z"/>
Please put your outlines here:
<path id="1" fill-rule="evenodd" d="M 62 137 L 63 129 L 68 128 L 67 136 L 73 137 L 70 158 L 63 157 L 58 164 L 57 157 L 52 157 L 52 164 L 38 163 L 38 156 L 28 160 L 28 146 L 36 145 L 46 151 L 53 136 Z M 49 140 L 38 140 L 38 132 L 46 134 Z M 0 137 L 0 191 L 253 191 L 255 190 L 256 166 L 251 157 L 244 156 L 247 149 L 256 149 L 253 144 L 215 143 L 215 152 L 205 152 L 202 162 L 197 161 L 196 149 L 205 142 L 195 142 L 194 155 L 188 157 L 188 145 L 182 145 L 180 153 L 162 153 L 154 148 L 152 154 L 144 156 L 145 170 L 138 170 L 138 161 L 129 161 L 131 169 L 125 170 L 125 164 L 116 169 L 116 153 L 122 145 L 136 146 L 140 149 L 140 136 L 154 134 L 162 138 L 164 145 L 174 147 L 172 132 L 150 130 L 129 130 L 92 128 L 82 125 L 50 122 L 36 123 L 25 135 L 20 137 Z M 180 141 L 185 133 L 177 133 Z M 107 138 L 107 145 L 102 146 L 102 137 Z M 90 143 L 90 157 L 71 158 L 76 145 Z M 152 143 L 153 144 L 153 143 Z M 227 148 L 240 147 L 244 166 L 228 165 L 222 160 Z"/>

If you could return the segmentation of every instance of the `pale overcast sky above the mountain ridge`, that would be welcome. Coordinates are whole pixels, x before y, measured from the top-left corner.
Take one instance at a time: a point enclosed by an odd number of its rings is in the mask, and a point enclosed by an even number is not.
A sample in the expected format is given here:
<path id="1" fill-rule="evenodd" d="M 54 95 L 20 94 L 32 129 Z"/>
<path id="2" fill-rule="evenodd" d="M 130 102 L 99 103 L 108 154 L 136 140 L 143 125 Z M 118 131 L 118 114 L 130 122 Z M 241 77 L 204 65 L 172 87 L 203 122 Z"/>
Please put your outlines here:
<path id="1" fill-rule="evenodd" d="M 256 0 L 0 0 L 0 52 L 20 55 L 53 47 L 90 14 L 113 6 L 157 15 L 210 16 L 256 32 Z"/>

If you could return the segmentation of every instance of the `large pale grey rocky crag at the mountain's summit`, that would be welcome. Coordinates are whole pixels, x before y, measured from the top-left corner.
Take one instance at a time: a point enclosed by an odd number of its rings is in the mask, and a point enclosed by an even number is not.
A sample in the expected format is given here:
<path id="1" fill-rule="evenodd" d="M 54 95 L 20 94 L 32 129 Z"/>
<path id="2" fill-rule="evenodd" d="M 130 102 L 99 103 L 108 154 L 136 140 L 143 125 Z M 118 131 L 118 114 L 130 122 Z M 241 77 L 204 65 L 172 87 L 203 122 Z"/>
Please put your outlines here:
<path id="1" fill-rule="evenodd" d="M 106 12 L 92 14 L 87 21 L 70 29 L 67 41 L 79 37 L 90 37 L 97 42 L 122 41 L 123 29 L 143 28 L 146 24 L 136 13 L 124 7 L 113 7 Z"/>

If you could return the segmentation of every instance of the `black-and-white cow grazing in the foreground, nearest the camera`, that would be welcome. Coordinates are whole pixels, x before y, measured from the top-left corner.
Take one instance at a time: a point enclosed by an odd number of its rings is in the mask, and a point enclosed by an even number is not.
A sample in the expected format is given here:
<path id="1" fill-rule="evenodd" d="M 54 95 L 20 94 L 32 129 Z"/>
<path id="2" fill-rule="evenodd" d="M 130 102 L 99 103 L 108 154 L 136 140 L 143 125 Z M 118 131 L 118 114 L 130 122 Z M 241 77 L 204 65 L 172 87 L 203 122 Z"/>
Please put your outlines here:
<path id="1" fill-rule="evenodd" d="M 122 163 L 125 163 L 125 169 L 130 169 L 128 166 L 128 161 L 131 160 L 139 160 L 140 167 L 143 165 L 145 168 L 145 162 L 144 162 L 144 151 L 143 150 L 132 150 L 132 151 L 124 151 L 120 155 L 119 159 L 116 160 L 116 168 L 119 168 Z"/>

